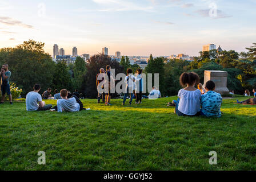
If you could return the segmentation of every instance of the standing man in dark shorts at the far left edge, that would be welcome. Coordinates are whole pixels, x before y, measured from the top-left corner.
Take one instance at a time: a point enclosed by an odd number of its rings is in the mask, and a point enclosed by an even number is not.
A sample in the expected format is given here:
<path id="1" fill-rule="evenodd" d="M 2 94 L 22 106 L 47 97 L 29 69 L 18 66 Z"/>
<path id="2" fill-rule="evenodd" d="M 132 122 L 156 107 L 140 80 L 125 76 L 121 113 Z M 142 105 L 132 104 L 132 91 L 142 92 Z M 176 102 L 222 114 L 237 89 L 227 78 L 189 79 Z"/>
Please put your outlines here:
<path id="1" fill-rule="evenodd" d="M 9 71 L 9 66 L 8 64 L 3 64 L 3 67 L 0 72 L 1 80 L 2 80 L 2 85 L 1 85 L 1 92 L 2 92 L 2 100 L 0 104 L 3 104 L 5 102 L 5 93 L 9 96 L 9 101 L 10 104 L 13 104 L 12 97 L 11 97 L 11 90 L 10 90 L 10 82 L 9 78 L 11 76 L 11 72 Z"/>

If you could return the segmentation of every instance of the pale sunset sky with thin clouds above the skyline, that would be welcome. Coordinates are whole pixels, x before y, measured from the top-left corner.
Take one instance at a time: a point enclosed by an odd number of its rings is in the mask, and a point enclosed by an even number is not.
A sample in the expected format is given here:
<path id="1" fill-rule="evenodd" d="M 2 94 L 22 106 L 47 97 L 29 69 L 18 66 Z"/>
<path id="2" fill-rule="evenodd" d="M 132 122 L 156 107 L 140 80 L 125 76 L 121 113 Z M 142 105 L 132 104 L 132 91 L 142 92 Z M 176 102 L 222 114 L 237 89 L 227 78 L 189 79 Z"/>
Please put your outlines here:
<path id="1" fill-rule="evenodd" d="M 256 42 L 256 0 L 0 0 L 0 48 L 33 39 L 72 54 L 197 56 L 213 43 L 241 52 Z"/>

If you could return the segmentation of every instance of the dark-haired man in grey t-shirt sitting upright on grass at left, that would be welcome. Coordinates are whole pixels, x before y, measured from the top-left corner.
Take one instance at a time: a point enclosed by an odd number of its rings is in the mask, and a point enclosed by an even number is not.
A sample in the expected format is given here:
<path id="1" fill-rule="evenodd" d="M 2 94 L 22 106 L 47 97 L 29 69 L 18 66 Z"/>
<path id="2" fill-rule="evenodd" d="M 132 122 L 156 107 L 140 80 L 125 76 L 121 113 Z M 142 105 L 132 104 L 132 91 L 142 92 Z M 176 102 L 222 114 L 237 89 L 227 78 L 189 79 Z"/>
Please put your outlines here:
<path id="1" fill-rule="evenodd" d="M 50 110 L 52 105 L 45 105 L 42 101 L 41 95 L 38 93 L 40 91 L 40 85 L 34 85 L 34 91 L 29 92 L 26 96 L 26 109 L 27 111 L 43 111 Z"/>

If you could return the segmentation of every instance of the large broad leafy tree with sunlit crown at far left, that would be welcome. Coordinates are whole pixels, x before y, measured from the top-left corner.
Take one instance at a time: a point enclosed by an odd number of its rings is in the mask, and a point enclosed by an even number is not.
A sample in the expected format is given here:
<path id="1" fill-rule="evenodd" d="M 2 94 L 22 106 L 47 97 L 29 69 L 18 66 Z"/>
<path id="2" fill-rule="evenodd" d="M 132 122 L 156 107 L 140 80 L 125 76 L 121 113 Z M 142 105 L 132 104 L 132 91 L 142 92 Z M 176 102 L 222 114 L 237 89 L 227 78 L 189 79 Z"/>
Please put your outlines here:
<path id="1" fill-rule="evenodd" d="M 43 51 L 43 45 L 29 40 L 15 48 L 3 48 L 0 51 L 1 62 L 9 64 L 12 73 L 10 81 L 22 88 L 22 96 L 33 90 L 34 84 L 40 84 L 41 90 L 46 90 L 52 83 L 54 62 Z"/>

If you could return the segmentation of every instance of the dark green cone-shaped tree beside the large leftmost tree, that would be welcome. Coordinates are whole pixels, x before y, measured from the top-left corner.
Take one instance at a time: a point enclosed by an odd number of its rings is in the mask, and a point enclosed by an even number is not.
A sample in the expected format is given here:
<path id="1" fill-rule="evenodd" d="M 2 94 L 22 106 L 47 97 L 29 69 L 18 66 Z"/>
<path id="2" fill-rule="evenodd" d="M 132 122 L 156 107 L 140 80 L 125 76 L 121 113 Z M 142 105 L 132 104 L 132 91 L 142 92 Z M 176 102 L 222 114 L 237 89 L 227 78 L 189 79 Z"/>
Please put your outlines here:
<path id="1" fill-rule="evenodd" d="M 67 89 L 72 92 L 73 86 L 71 84 L 69 69 L 64 61 L 60 61 L 55 65 L 53 84 L 51 87 L 58 90 Z"/>

